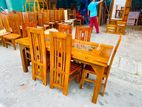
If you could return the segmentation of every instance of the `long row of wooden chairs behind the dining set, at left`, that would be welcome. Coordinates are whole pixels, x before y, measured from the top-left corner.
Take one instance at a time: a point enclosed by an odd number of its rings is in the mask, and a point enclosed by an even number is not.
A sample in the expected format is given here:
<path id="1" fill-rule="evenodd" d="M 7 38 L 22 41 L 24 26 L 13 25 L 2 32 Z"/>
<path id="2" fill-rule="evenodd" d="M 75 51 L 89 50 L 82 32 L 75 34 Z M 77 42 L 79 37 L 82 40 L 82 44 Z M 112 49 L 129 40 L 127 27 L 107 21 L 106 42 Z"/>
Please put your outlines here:
<path id="1" fill-rule="evenodd" d="M 44 12 L 10 12 L 8 14 L 0 13 L 0 28 L 6 29 L 10 35 L 0 36 L 4 46 L 13 45 L 16 49 L 15 40 L 24 37 L 21 30 L 24 29 L 25 23 L 32 23 L 32 26 L 43 27 L 44 29 L 58 25 L 64 21 L 64 10 L 46 10 Z M 56 15 L 55 15 L 56 14 Z"/>

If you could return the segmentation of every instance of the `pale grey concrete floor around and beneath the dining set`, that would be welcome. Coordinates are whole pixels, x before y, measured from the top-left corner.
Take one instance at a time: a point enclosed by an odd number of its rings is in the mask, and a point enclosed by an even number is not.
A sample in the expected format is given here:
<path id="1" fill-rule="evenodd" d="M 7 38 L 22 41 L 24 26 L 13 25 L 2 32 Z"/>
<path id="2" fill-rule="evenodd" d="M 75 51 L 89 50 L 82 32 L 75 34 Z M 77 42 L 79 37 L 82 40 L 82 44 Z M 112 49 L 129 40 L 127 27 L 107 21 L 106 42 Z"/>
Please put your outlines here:
<path id="1" fill-rule="evenodd" d="M 117 35 L 92 33 L 91 41 L 115 45 Z M 142 31 L 127 29 L 116 54 L 105 96 L 91 103 L 94 86 L 85 83 L 82 90 L 74 81 L 68 96 L 58 89 L 33 81 L 23 73 L 20 53 L 0 46 L 0 107 L 142 107 Z"/>

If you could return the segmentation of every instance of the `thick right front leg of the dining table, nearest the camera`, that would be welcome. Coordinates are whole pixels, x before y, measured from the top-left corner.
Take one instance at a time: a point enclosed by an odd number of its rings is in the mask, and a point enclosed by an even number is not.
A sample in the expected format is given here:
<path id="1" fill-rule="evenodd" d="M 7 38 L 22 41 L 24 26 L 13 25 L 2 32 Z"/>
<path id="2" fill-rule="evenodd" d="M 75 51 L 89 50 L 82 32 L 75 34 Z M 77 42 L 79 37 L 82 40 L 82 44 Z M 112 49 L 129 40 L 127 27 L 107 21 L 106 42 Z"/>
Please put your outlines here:
<path id="1" fill-rule="evenodd" d="M 104 74 L 105 67 L 92 66 L 92 68 L 94 69 L 94 71 L 96 71 L 96 84 L 95 84 L 95 87 L 94 87 L 92 102 L 96 104 L 97 98 L 99 96 L 101 84 L 102 84 L 102 77 L 103 77 L 103 74 Z"/>

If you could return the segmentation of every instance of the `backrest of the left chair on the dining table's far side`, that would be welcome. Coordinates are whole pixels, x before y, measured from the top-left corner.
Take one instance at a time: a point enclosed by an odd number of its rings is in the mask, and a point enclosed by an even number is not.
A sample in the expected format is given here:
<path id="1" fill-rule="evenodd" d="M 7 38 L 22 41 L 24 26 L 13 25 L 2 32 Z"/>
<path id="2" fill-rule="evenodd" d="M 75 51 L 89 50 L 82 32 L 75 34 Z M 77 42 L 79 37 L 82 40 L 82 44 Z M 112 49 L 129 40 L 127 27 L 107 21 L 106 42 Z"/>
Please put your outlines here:
<path id="1" fill-rule="evenodd" d="M 59 24 L 59 32 L 72 34 L 72 26 L 66 24 Z"/>

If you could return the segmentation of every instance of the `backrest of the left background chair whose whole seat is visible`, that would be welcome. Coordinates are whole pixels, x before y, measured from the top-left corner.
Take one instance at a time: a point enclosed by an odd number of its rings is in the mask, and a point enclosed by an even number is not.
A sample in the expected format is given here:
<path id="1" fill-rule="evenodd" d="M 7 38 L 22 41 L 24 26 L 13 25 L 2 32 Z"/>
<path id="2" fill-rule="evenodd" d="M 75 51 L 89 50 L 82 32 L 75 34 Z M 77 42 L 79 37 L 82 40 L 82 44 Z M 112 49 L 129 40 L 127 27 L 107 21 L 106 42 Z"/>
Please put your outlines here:
<path id="1" fill-rule="evenodd" d="M 21 34 L 19 20 L 20 18 L 17 13 L 11 12 L 9 14 L 9 24 L 12 29 L 12 33 Z"/>

